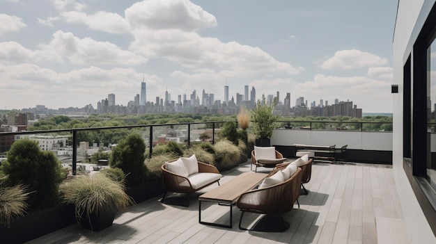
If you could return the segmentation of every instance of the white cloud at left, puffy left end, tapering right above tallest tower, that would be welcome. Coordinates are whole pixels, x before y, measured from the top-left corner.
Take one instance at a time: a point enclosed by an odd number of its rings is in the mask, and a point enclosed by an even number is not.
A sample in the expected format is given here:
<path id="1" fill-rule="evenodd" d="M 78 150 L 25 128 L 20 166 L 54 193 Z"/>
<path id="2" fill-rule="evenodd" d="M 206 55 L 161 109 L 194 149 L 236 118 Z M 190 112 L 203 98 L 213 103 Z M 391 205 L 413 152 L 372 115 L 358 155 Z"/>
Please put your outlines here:
<path id="1" fill-rule="evenodd" d="M 39 46 L 47 56 L 68 59 L 79 65 L 137 65 L 146 58 L 120 49 L 111 42 L 98 42 L 91 38 L 77 38 L 72 33 L 56 31 L 49 44 Z"/>

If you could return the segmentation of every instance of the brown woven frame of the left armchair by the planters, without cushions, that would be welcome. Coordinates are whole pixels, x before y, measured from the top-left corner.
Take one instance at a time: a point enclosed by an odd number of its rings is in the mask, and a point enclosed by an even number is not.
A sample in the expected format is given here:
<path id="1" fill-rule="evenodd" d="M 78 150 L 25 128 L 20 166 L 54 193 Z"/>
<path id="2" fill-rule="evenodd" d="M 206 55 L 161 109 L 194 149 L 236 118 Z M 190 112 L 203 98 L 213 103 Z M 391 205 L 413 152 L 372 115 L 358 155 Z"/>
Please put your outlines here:
<path id="1" fill-rule="evenodd" d="M 177 159 L 173 160 L 176 161 Z M 169 163 L 173 162 L 169 161 Z M 164 193 L 161 202 L 163 203 L 166 197 L 166 194 L 171 193 L 187 193 L 187 206 L 189 206 L 189 194 L 195 193 L 197 190 L 201 190 L 206 186 L 210 186 L 215 182 L 219 185 L 219 179 L 216 181 L 212 181 L 205 186 L 201 186 L 200 188 L 194 188 L 188 177 L 182 177 L 178 174 L 174 174 L 169 170 L 166 170 L 165 164 L 162 165 L 162 180 L 164 181 L 164 186 L 166 188 L 166 193 Z M 198 162 L 198 173 L 216 173 L 219 174 L 219 170 L 214 165 L 209 165 L 207 163 Z"/>

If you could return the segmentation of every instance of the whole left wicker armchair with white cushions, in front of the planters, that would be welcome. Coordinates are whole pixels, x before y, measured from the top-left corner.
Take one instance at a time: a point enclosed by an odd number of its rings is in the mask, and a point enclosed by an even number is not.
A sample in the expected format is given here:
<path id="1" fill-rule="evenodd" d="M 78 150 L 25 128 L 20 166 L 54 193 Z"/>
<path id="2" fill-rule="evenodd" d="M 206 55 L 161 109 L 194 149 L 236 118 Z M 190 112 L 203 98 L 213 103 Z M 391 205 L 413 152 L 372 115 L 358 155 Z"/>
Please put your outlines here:
<path id="1" fill-rule="evenodd" d="M 169 192 L 187 193 L 187 206 L 189 206 L 190 193 L 195 193 L 215 182 L 219 185 L 221 177 L 215 166 L 198 162 L 195 155 L 166 162 L 162 165 L 162 179 L 166 193 L 161 202 L 164 203 Z"/>

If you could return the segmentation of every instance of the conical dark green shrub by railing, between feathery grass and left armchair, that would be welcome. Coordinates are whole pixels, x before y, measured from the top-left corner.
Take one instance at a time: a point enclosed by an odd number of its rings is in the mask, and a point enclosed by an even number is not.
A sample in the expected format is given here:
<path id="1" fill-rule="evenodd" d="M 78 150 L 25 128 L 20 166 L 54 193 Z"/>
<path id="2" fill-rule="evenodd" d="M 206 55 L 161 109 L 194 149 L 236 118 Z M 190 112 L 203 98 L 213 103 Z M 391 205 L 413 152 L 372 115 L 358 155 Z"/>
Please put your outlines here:
<path id="1" fill-rule="evenodd" d="M 146 144 L 141 136 L 132 133 L 118 142 L 111 154 L 111 168 L 120 168 L 125 174 L 127 186 L 146 181 L 147 168 L 144 165 Z"/>

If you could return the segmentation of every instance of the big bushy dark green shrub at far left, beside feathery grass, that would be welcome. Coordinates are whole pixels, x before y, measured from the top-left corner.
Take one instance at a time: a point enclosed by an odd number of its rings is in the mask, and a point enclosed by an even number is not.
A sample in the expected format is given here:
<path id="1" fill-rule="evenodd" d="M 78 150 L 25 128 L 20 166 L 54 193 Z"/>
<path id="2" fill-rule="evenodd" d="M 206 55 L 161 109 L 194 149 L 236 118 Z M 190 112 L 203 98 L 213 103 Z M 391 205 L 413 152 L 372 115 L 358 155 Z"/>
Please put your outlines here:
<path id="1" fill-rule="evenodd" d="M 53 152 L 44 152 L 38 142 L 17 140 L 1 165 L 10 186 L 22 184 L 33 192 L 26 200 L 29 212 L 45 209 L 59 203 L 59 184 L 65 179 L 65 170 Z"/>

